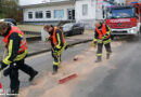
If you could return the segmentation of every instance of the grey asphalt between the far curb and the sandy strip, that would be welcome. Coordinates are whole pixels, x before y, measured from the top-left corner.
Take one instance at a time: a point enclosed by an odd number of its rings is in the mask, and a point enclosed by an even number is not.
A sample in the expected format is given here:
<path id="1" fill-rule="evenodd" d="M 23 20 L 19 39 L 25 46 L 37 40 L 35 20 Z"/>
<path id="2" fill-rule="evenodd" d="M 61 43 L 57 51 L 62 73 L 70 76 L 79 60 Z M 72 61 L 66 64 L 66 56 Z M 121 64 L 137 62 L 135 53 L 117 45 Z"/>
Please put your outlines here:
<path id="1" fill-rule="evenodd" d="M 89 43 L 85 43 L 67 48 L 67 51 L 64 51 L 62 55 L 62 60 L 72 60 L 75 55 L 84 52 L 86 48 L 88 48 L 88 46 Z M 34 67 L 34 69 L 38 70 L 39 74 L 36 79 L 41 79 L 44 73 L 52 71 L 53 59 L 51 57 L 51 53 L 49 52 L 33 57 L 28 57 L 26 59 L 26 64 Z M 20 70 L 21 88 L 31 85 L 28 82 L 28 78 L 29 77 L 27 74 Z M 4 89 L 9 89 L 9 77 L 2 77 L 2 85 Z"/>

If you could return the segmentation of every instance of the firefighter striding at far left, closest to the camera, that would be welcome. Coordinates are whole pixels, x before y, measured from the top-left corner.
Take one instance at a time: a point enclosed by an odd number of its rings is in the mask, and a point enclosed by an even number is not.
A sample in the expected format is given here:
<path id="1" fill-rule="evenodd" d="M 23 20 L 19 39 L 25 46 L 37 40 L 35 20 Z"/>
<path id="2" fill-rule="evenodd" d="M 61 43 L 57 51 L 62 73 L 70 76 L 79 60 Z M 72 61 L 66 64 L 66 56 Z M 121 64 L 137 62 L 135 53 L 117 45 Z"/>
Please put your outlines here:
<path id="1" fill-rule="evenodd" d="M 3 71 L 3 74 L 10 77 L 10 94 L 18 94 L 18 69 L 30 77 L 29 81 L 34 80 L 38 74 L 38 71 L 25 64 L 25 58 L 27 56 L 27 42 L 24 32 L 15 26 L 0 22 L 0 34 L 4 37 L 3 42 L 8 50 L 8 56 L 0 63 L 0 70 L 3 70 L 9 66 L 9 68 Z"/>

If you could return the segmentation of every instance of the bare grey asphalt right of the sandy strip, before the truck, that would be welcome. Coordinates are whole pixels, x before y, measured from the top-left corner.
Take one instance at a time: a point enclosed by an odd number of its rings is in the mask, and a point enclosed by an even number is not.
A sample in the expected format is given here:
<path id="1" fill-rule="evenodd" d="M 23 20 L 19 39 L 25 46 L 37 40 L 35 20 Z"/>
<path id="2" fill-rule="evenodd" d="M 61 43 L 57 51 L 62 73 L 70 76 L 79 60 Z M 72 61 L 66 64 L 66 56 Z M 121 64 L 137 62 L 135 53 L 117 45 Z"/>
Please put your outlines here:
<path id="1" fill-rule="evenodd" d="M 141 97 L 141 41 L 129 39 L 114 53 L 74 87 L 70 97 Z"/>

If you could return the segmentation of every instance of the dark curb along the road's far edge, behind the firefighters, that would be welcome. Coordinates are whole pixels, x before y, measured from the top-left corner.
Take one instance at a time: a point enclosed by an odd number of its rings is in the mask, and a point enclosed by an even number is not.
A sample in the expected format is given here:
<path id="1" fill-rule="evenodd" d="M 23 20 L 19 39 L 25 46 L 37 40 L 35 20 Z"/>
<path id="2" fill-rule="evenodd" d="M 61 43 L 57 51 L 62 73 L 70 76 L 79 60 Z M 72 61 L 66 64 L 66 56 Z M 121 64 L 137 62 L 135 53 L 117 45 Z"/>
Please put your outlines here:
<path id="1" fill-rule="evenodd" d="M 81 44 L 81 43 L 87 43 L 87 42 L 90 42 L 90 41 L 92 41 L 92 39 L 82 40 L 82 41 L 79 41 L 79 42 L 70 43 L 70 44 L 67 44 L 67 46 L 70 47 L 70 46 L 73 46 L 73 45 L 77 45 L 77 44 Z M 29 53 L 29 54 L 27 55 L 27 57 L 35 56 L 35 55 L 42 54 L 42 53 L 47 53 L 47 52 L 50 52 L 50 51 L 51 51 L 51 48 L 42 50 L 42 51 L 35 52 L 35 53 Z"/>

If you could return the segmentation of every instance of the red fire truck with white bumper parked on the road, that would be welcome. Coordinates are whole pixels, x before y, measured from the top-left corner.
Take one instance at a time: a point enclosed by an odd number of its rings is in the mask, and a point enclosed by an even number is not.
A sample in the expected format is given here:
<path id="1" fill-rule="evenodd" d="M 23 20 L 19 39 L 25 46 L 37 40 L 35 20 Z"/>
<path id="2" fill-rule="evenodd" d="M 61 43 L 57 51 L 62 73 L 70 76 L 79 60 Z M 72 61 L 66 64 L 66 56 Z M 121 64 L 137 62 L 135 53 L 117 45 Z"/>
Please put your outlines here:
<path id="1" fill-rule="evenodd" d="M 139 34 L 141 24 L 141 3 L 107 8 L 105 23 L 113 36 Z"/>

